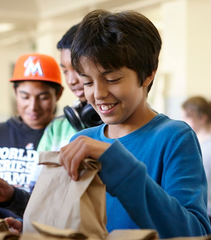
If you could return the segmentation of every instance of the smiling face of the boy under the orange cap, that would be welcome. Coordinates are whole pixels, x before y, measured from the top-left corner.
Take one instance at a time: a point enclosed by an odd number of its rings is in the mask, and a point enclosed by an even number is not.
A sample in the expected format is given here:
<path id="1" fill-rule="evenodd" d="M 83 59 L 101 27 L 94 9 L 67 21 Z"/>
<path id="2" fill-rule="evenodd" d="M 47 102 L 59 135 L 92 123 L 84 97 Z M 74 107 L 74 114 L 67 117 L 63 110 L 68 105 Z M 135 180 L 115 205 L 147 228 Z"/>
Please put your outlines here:
<path id="1" fill-rule="evenodd" d="M 24 81 L 16 92 L 18 114 L 29 127 L 41 129 L 53 119 L 56 102 L 56 90 L 39 81 Z"/>

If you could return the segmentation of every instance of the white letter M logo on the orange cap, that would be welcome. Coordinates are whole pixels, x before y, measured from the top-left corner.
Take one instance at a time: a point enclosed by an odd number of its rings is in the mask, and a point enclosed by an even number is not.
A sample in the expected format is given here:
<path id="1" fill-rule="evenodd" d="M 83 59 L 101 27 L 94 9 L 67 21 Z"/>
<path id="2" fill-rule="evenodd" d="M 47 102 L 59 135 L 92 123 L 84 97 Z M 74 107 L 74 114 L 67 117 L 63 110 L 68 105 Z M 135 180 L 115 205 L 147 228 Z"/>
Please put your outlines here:
<path id="1" fill-rule="evenodd" d="M 36 73 L 38 74 L 38 76 L 44 76 L 39 59 L 37 61 L 34 61 L 34 59 L 36 59 L 36 57 L 29 57 L 24 62 L 25 67 L 24 76 L 26 77 L 29 75 L 35 76 Z"/>

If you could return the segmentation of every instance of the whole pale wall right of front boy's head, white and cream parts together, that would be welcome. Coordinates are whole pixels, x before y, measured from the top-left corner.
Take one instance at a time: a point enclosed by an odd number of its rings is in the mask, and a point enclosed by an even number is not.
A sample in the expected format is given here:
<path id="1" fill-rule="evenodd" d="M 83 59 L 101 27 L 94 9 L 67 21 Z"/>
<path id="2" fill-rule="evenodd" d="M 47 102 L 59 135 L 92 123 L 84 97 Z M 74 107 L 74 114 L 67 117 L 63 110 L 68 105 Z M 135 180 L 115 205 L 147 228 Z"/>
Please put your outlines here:
<path id="1" fill-rule="evenodd" d="M 186 98 L 202 95 L 211 100 L 211 1 L 165 1 L 161 9 L 163 48 L 157 85 L 163 106 L 158 110 L 180 119 Z"/>

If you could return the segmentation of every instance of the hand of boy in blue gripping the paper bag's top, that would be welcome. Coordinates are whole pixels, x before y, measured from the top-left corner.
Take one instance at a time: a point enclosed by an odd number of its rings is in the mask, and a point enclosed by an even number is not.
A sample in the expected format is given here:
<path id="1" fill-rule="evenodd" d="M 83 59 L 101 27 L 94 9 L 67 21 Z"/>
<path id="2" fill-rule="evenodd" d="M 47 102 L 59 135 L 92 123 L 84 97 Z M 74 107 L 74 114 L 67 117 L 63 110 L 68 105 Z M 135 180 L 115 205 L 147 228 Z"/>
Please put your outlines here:
<path id="1" fill-rule="evenodd" d="M 73 180 L 77 180 L 80 162 L 85 158 L 97 160 L 109 147 L 109 143 L 97 141 L 86 136 L 79 136 L 61 148 L 61 165 L 64 166 Z"/>

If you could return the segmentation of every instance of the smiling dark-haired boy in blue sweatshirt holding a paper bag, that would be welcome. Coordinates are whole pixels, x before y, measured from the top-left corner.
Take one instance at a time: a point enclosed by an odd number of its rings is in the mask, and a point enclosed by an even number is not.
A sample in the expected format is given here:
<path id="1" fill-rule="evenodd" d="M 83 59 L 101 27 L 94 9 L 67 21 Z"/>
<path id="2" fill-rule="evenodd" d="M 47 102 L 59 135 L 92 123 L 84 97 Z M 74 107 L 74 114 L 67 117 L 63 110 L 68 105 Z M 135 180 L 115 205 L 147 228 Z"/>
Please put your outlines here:
<path id="1" fill-rule="evenodd" d="M 85 158 L 102 164 L 109 232 L 203 236 L 211 226 L 197 136 L 184 121 L 147 104 L 161 45 L 156 27 L 138 12 L 95 10 L 84 17 L 71 47 L 72 65 L 104 124 L 76 133 L 61 148 L 60 162 L 76 181 Z"/>

